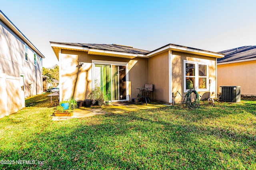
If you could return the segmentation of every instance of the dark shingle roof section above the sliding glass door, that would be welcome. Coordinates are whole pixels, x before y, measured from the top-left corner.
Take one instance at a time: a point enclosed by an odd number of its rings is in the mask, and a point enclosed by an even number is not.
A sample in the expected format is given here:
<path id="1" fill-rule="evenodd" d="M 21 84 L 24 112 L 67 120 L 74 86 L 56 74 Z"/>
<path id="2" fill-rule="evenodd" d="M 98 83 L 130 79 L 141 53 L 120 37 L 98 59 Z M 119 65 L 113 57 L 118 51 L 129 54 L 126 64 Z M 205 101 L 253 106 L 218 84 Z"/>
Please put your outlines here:
<path id="1" fill-rule="evenodd" d="M 117 45 L 117 44 L 86 44 L 86 43 L 57 43 L 57 42 L 50 42 L 55 44 L 62 44 L 62 45 L 72 45 L 77 47 L 86 47 L 89 49 L 99 49 L 99 50 L 107 50 L 107 51 L 116 51 L 122 53 L 132 53 L 132 54 L 147 54 L 150 51 L 136 49 L 130 46 L 124 45 Z"/>

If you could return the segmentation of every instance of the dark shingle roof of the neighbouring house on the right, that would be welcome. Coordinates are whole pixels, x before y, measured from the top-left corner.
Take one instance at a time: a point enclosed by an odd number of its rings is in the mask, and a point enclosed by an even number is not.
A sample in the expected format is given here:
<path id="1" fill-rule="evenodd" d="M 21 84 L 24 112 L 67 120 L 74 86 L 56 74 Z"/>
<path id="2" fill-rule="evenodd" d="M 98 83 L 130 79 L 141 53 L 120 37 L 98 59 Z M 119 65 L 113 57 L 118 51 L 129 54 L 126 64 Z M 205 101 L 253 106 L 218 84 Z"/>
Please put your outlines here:
<path id="1" fill-rule="evenodd" d="M 217 59 L 217 63 L 239 61 L 256 58 L 256 46 L 243 46 L 235 49 L 220 51 L 225 57 Z"/>

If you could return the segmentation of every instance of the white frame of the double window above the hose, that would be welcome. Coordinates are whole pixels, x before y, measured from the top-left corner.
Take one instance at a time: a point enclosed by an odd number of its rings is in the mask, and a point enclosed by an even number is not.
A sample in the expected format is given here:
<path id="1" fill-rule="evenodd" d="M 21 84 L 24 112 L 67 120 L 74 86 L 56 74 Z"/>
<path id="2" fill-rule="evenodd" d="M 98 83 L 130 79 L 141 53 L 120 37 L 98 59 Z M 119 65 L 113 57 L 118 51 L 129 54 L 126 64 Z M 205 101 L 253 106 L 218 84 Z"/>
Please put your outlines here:
<path id="1" fill-rule="evenodd" d="M 183 92 L 186 93 L 188 92 L 188 90 L 190 89 L 186 89 L 186 64 L 195 64 L 195 76 L 190 76 L 190 77 L 194 77 L 195 78 L 195 84 L 194 84 L 194 89 L 198 92 L 206 92 L 209 90 L 209 84 L 208 84 L 208 80 L 209 80 L 209 72 L 208 72 L 208 64 L 204 63 L 204 62 L 198 62 L 198 61 L 189 61 L 189 60 L 183 60 Z M 198 69 L 198 65 L 206 65 L 206 76 L 199 76 L 199 69 Z M 202 78 L 206 78 L 206 88 L 199 88 L 199 82 L 198 79 L 202 77 Z"/>

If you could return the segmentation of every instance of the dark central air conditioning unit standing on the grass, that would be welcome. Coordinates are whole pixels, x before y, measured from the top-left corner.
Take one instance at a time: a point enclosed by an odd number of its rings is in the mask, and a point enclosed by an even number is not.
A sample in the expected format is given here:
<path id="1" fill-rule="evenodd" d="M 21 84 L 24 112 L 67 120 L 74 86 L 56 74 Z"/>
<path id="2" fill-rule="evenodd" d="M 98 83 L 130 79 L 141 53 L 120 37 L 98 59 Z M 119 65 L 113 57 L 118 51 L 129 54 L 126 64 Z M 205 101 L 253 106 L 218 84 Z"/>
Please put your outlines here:
<path id="1" fill-rule="evenodd" d="M 240 102 L 241 87 L 240 86 L 220 86 L 220 101 Z"/>

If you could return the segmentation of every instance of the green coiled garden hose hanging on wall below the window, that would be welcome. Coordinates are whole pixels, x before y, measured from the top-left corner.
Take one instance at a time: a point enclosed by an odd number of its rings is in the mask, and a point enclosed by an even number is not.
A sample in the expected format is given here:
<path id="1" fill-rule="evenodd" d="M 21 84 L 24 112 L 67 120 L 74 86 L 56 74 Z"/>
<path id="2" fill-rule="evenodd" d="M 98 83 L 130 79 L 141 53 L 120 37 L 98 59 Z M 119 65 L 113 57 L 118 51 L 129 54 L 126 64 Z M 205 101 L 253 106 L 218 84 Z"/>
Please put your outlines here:
<path id="1" fill-rule="evenodd" d="M 181 94 L 180 94 L 180 96 L 181 96 Z M 194 90 L 194 89 L 190 89 L 190 90 L 188 90 L 188 92 L 186 93 L 186 95 L 184 97 L 183 104 L 186 104 L 188 106 L 188 108 L 190 108 L 190 109 L 198 109 L 199 101 L 200 100 L 199 100 L 198 92 L 196 92 L 196 90 Z"/>

